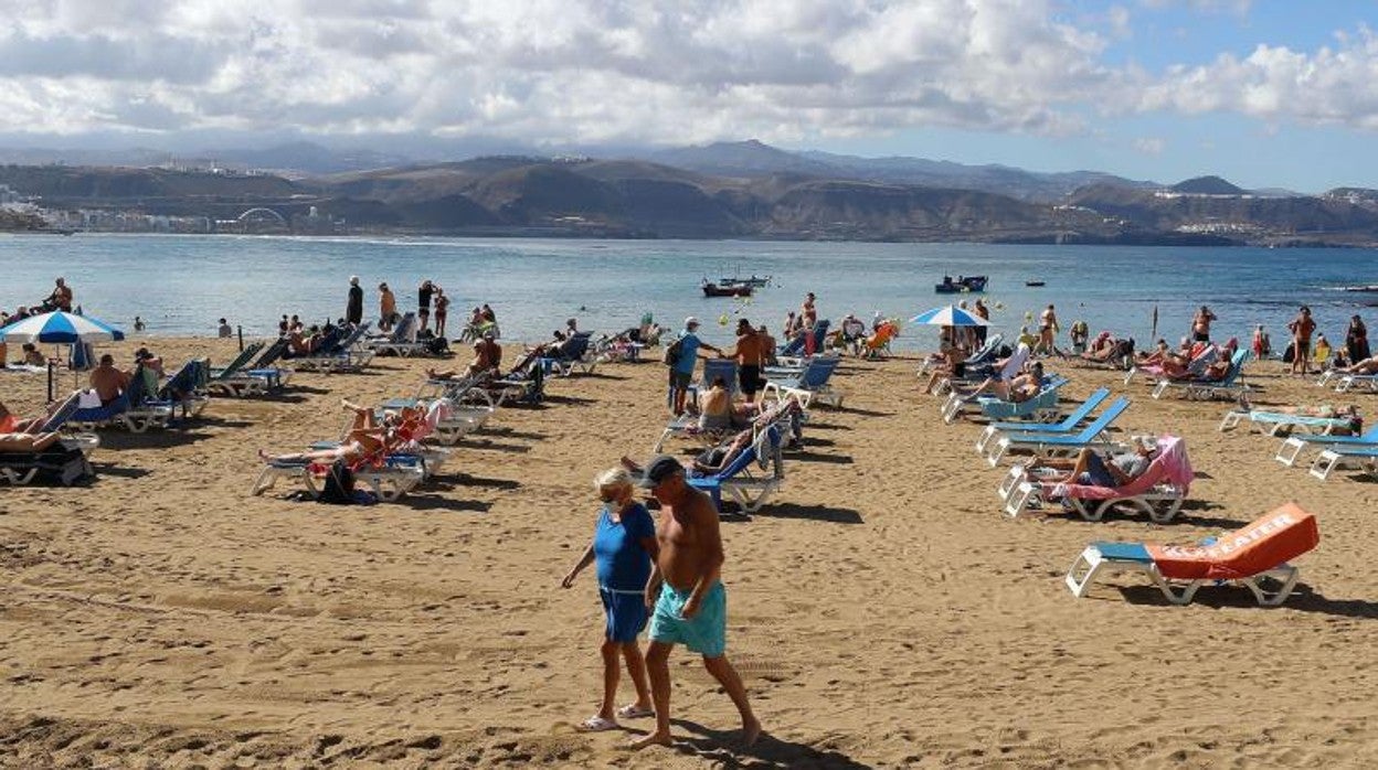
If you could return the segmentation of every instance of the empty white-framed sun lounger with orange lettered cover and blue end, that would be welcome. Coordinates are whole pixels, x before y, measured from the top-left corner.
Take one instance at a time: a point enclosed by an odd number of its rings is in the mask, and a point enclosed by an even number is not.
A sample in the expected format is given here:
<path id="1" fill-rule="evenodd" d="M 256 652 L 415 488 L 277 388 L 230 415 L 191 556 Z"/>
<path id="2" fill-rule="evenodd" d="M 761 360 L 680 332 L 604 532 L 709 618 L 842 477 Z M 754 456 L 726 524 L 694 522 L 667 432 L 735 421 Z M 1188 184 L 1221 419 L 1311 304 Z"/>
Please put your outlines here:
<path id="1" fill-rule="evenodd" d="M 1231 581 L 1250 590 L 1262 606 L 1283 603 L 1299 572 L 1287 563 L 1320 543 L 1316 517 L 1287 503 L 1243 529 L 1199 545 L 1091 543 L 1067 572 L 1073 596 L 1084 596 L 1104 572 L 1141 572 L 1174 605 L 1192 601 L 1210 581 Z M 1273 580 L 1276 587 L 1264 583 Z"/>

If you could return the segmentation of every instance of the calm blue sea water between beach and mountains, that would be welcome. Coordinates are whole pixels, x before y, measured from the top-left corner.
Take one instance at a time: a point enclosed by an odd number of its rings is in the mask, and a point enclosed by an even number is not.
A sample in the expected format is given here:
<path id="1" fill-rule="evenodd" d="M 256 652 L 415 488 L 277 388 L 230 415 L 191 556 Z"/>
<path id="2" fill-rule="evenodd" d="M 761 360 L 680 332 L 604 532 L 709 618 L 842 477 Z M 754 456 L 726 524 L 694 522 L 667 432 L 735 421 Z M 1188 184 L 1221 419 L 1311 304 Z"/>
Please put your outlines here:
<path id="1" fill-rule="evenodd" d="M 451 296 L 451 336 L 484 302 L 507 339 L 539 340 L 569 317 L 583 329 L 620 331 L 650 313 L 678 326 L 688 315 L 706 337 L 730 340 L 737 317 L 777 331 L 805 292 L 836 325 L 846 313 L 870 320 L 909 317 L 971 300 L 937 295 L 944 274 L 991 277 L 984 295 L 995 329 L 1018 332 L 1054 304 L 1062 328 L 1083 318 L 1093 335 L 1111 329 L 1149 339 L 1188 332 L 1196 306 L 1220 318 L 1217 336 L 1247 339 L 1264 324 L 1275 346 L 1298 304 L 1310 304 L 1320 331 L 1344 340 L 1348 318 L 1378 321 L 1378 295 L 1335 291 L 1378 284 L 1375 252 L 1166 247 L 1025 247 L 984 244 L 841 244 L 757 241 L 588 241 L 467 238 L 305 238 L 201 236 L 0 237 L 0 309 L 33 304 L 63 275 L 90 315 L 145 333 L 214 335 L 226 317 L 247 336 L 299 314 L 307 324 L 343 315 L 349 277 L 365 287 L 365 318 L 378 314 L 386 281 L 401 310 L 431 278 Z M 750 300 L 706 299 L 704 277 L 770 275 Z M 1025 281 L 1046 281 L 1043 288 Z M 904 325 L 904 348 L 930 348 L 932 328 Z"/>

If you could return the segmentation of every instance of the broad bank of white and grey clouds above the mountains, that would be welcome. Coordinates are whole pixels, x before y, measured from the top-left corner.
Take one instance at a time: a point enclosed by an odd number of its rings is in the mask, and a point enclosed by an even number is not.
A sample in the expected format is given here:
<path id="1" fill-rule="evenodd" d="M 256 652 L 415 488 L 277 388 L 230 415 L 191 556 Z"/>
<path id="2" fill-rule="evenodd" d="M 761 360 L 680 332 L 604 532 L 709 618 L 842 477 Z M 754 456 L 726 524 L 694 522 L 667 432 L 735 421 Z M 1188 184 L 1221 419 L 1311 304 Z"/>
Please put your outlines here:
<path id="1" fill-rule="evenodd" d="M 1142 0 L 1247 14 L 1243 0 Z M 1058 0 L 0 0 L 0 132 L 801 142 L 1075 135 L 1100 112 L 1378 128 L 1378 44 L 1111 66 Z"/>

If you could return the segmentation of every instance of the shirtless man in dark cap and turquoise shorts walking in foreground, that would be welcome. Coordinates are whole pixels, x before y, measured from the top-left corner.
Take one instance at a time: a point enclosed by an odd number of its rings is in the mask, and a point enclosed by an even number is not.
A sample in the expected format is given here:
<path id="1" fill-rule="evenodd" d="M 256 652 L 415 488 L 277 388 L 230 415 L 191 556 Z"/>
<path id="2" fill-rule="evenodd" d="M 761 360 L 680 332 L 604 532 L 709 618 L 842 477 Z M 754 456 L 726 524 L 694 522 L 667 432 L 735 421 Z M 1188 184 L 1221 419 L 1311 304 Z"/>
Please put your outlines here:
<path id="1" fill-rule="evenodd" d="M 659 455 L 646 463 L 641 486 L 660 501 L 656 522 L 659 554 L 646 583 L 652 607 L 646 672 L 656 704 L 656 729 L 633 748 L 670 745 L 670 650 L 683 645 L 703 656 L 703 667 L 722 685 L 741 714 L 741 742 L 761 737 L 747 689 L 728 661 L 728 594 L 722 572 L 722 533 L 718 511 L 707 495 L 685 481 L 679 460 Z"/>

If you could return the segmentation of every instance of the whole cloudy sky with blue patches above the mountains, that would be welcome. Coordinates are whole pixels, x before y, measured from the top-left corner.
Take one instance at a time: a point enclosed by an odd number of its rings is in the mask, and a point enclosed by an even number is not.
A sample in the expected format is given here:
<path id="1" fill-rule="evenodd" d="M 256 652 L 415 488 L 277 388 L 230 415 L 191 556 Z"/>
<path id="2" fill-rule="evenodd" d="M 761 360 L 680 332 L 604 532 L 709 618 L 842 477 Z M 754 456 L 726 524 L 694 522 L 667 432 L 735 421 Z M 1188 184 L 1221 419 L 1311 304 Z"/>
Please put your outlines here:
<path id="1" fill-rule="evenodd" d="M 686 145 L 1378 187 L 1378 6 L 0 0 L 0 142 Z"/>

